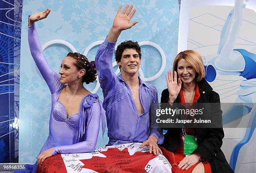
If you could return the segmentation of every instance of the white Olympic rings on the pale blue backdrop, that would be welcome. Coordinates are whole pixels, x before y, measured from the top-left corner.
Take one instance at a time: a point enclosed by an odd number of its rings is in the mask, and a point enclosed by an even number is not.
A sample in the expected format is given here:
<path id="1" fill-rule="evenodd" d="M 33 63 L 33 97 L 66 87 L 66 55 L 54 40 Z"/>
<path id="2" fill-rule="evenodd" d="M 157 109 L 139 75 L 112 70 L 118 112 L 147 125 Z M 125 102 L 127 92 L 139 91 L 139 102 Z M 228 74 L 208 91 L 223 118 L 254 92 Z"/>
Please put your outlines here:
<path id="1" fill-rule="evenodd" d="M 93 47 L 95 47 L 95 46 L 97 46 L 97 45 L 100 45 L 100 44 L 103 43 L 103 42 L 104 42 L 104 40 L 95 41 L 95 42 L 91 43 L 91 44 L 85 49 L 85 51 L 84 51 L 83 54 L 84 54 L 85 56 L 87 56 L 87 53 L 88 53 Z M 64 45 L 64 46 L 67 46 L 68 48 L 70 48 L 70 50 L 71 50 L 72 52 L 77 52 L 77 50 L 74 48 L 74 46 L 73 46 L 72 44 L 70 44 L 70 43 L 68 43 L 67 41 L 64 41 L 64 40 L 51 40 L 51 41 L 48 41 L 47 43 L 45 43 L 45 44 L 42 46 L 42 50 L 44 51 L 48 46 L 51 46 L 51 45 L 53 45 L 53 44 L 62 44 L 62 45 Z M 161 68 L 160 68 L 160 70 L 159 70 L 154 76 L 151 76 L 151 77 L 146 78 L 146 77 L 144 76 L 144 73 L 143 73 L 143 71 L 141 70 L 141 68 L 138 70 L 139 75 L 140 75 L 140 77 L 141 77 L 141 79 L 142 79 L 143 81 L 153 81 L 153 80 L 157 79 L 159 76 L 161 76 L 161 74 L 163 73 L 163 71 L 164 71 L 164 69 L 165 69 L 165 66 L 166 66 L 166 56 L 165 56 L 165 53 L 164 53 L 163 49 L 162 49 L 159 45 L 157 45 L 156 43 L 151 42 L 151 41 L 141 41 L 141 42 L 139 42 L 139 45 L 140 45 L 140 46 L 143 46 L 143 45 L 152 46 L 152 47 L 156 48 L 156 49 L 159 51 L 160 55 L 161 55 L 161 59 L 162 59 Z M 115 49 L 116 49 L 116 47 L 115 47 Z M 116 63 L 116 62 L 113 63 L 113 67 L 115 67 L 115 66 L 117 66 L 117 63 Z M 118 75 L 119 72 L 120 72 L 120 69 L 117 68 L 116 71 L 115 71 L 115 74 Z M 98 77 L 98 76 L 97 76 L 96 81 L 97 81 L 97 84 L 96 84 L 95 88 L 93 89 L 92 93 L 96 93 L 96 92 L 98 91 L 98 89 L 100 88 L 100 82 L 99 82 L 99 77 Z"/>

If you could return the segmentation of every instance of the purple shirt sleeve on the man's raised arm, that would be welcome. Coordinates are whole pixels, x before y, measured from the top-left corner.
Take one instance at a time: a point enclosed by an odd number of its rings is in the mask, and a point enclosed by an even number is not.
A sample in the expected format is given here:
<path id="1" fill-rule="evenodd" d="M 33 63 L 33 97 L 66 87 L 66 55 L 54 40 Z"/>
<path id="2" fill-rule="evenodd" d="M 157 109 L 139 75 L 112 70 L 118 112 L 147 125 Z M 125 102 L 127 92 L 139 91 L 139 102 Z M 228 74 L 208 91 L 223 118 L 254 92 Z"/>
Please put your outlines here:
<path id="1" fill-rule="evenodd" d="M 100 45 L 95 57 L 97 74 L 104 98 L 108 97 L 115 89 L 116 76 L 112 66 L 114 50 L 115 43 L 108 42 L 106 38 Z"/>

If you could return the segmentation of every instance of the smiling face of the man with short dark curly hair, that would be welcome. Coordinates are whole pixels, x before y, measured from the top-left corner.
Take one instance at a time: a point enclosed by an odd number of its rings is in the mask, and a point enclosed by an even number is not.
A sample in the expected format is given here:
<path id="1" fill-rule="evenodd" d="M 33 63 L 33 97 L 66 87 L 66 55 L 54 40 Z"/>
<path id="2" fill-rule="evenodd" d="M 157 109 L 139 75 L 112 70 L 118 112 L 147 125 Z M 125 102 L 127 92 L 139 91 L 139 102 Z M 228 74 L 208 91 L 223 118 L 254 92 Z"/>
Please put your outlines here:
<path id="1" fill-rule="evenodd" d="M 136 49 L 126 48 L 123 53 L 120 61 L 117 61 L 118 66 L 121 66 L 122 75 L 136 74 L 140 68 L 141 60 Z"/>

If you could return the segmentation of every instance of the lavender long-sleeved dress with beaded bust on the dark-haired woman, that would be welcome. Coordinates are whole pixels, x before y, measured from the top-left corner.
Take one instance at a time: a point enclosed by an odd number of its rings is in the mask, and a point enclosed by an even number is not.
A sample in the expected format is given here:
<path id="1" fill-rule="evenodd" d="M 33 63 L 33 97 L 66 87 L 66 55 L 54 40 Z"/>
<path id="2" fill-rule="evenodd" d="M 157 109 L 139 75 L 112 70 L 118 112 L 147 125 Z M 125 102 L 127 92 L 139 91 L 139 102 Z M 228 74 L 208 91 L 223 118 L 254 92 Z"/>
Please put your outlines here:
<path id="1" fill-rule="evenodd" d="M 85 96 L 82 99 L 79 113 L 67 118 L 66 109 L 59 101 L 59 95 L 65 85 L 60 83 L 59 75 L 50 68 L 44 58 L 35 24 L 28 27 L 28 43 L 31 55 L 51 91 L 49 136 L 40 153 L 52 147 L 55 147 L 53 155 L 94 151 L 100 129 L 100 118 L 102 118 L 103 133 L 106 121 L 105 111 L 97 94 Z"/>

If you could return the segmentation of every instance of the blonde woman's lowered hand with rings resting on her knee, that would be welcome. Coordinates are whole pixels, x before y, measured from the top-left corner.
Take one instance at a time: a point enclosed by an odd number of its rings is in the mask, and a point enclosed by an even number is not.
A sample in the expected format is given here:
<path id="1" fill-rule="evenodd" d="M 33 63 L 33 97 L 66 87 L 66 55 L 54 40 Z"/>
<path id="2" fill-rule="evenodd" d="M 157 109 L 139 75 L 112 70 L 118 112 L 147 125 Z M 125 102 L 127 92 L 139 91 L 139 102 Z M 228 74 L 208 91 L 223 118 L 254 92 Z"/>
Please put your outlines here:
<path id="1" fill-rule="evenodd" d="M 179 162 L 178 169 L 188 170 L 192 165 L 195 165 L 200 160 L 200 156 L 196 154 L 184 157 L 182 161 Z"/>

